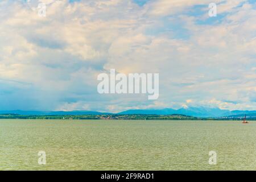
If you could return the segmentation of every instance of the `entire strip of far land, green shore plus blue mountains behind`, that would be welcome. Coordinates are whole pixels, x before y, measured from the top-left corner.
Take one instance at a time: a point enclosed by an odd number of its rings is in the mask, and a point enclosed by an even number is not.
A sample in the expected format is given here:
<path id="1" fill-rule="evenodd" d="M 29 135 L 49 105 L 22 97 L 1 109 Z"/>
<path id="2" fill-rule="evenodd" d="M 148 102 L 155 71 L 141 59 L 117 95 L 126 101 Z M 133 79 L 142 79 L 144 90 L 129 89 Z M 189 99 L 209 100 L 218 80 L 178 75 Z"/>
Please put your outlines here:
<path id="1" fill-rule="evenodd" d="M 0 110 L 0 119 L 135 119 L 135 120 L 256 120 L 256 110 L 227 110 L 210 107 L 180 109 L 134 109 L 119 113 L 100 111 Z"/>

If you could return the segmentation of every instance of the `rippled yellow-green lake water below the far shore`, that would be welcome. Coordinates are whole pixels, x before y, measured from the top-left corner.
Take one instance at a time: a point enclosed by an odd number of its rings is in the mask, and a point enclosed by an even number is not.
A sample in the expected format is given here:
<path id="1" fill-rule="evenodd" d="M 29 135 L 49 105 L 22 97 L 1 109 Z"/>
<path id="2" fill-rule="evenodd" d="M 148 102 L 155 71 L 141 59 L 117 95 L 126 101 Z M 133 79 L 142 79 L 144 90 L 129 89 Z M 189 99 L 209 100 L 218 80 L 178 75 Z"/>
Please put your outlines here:
<path id="1" fill-rule="evenodd" d="M 11 169 L 256 170 L 256 122 L 2 119 L 0 170 Z"/>

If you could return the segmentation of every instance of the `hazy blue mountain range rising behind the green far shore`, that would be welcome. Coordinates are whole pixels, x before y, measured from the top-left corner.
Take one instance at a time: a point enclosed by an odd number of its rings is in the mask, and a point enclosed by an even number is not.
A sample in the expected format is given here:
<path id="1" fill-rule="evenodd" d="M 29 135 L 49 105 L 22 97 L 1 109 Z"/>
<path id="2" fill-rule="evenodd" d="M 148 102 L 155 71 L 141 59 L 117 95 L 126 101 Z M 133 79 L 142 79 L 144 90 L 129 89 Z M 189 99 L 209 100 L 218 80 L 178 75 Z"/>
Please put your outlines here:
<path id="1" fill-rule="evenodd" d="M 82 115 L 82 114 L 113 114 L 113 113 L 101 113 L 97 111 L 24 111 L 24 110 L 4 110 L 0 111 L 0 114 L 21 114 L 21 115 Z M 170 114 L 182 114 L 193 117 L 242 117 L 247 114 L 249 117 L 256 116 L 256 110 L 223 110 L 210 107 L 187 107 L 180 109 L 137 109 L 126 110 L 115 114 L 156 114 L 156 115 L 170 115 Z"/>

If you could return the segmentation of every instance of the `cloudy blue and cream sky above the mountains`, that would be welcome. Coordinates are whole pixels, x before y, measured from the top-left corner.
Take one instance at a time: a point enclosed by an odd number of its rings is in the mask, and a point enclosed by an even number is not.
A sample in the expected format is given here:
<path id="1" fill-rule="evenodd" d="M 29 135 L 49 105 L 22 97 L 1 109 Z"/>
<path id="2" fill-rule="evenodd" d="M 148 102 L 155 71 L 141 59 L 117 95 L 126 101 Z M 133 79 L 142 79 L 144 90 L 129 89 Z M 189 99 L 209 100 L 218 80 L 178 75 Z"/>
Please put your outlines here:
<path id="1" fill-rule="evenodd" d="M 255 1 L 41 2 L 0 1 L 0 110 L 256 110 Z M 159 73 L 158 100 L 99 94 L 110 69 Z"/>

